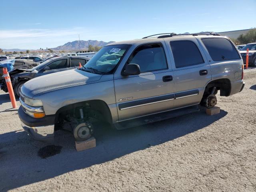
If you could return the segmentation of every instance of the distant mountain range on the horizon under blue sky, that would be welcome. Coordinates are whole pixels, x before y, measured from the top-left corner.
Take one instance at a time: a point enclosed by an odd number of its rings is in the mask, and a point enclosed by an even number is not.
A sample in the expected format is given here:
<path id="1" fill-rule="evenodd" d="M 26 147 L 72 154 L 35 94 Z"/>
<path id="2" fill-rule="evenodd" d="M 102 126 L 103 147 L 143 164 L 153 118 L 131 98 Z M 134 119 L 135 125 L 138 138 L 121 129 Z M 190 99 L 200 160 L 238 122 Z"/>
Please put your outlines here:
<path id="1" fill-rule="evenodd" d="M 104 42 L 104 41 L 97 41 L 97 40 L 80 40 L 80 50 L 86 50 L 89 45 L 92 46 L 105 46 L 107 44 L 113 43 L 114 41 L 110 42 Z M 54 51 L 60 51 L 60 50 L 79 50 L 79 41 L 73 41 L 73 42 L 67 42 L 64 45 L 51 48 Z M 4 52 L 20 52 L 20 51 L 26 51 L 24 49 L 3 49 Z M 38 50 L 30 50 L 30 51 L 38 51 Z"/>

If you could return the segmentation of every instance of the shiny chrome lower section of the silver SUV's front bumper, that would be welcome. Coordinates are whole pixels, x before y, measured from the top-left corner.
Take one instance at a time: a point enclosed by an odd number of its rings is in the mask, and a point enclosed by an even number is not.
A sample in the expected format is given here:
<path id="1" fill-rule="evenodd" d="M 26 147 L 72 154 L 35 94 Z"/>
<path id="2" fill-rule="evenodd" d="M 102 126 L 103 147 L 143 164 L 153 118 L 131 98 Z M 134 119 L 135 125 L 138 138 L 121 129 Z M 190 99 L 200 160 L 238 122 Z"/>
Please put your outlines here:
<path id="1" fill-rule="evenodd" d="M 44 140 L 54 137 L 54 125 L 30 127 L 21 122 L 22 128 L 34 139 Z"/>

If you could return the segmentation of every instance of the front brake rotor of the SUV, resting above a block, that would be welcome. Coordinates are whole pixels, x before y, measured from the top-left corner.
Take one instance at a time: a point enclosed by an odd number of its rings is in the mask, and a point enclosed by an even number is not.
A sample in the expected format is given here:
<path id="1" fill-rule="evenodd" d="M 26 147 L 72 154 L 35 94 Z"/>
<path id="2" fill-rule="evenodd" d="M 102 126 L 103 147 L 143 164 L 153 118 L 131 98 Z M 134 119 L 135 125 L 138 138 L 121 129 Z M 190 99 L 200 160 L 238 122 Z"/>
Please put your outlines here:
<path id="1" fill-rule="evenodd" d="M 80 123 L 73 130 L 74 138 L 77 141 L 85 141 L 91 137 L 91 125 L 88 123 Z"/>

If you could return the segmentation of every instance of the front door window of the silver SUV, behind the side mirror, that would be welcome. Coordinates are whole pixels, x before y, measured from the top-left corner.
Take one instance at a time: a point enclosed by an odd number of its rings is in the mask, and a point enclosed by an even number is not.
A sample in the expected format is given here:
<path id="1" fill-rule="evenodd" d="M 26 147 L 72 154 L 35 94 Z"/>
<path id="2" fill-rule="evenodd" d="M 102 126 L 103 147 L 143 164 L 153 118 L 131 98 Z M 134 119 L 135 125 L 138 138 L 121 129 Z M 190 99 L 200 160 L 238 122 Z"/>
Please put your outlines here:
<path id="1" fill-rule="evenodd" d="M 164 48 L 161 44 L 139 46 L 128 59 L 129 63 L 138 64 L 141 73 L 168 68 Z"/>

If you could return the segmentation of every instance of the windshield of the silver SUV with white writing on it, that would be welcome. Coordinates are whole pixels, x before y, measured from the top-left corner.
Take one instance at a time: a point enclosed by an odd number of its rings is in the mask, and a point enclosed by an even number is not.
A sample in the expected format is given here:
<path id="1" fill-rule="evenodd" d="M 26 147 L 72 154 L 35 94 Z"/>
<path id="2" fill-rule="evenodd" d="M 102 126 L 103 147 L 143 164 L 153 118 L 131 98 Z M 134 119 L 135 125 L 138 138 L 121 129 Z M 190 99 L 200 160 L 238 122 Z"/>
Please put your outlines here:
<path id="1" fill-rule="evenodd" d="M 105 46 L 84 65 L 82 70 L 91 69 L 99 74 L 110 73 L 129 47 L 130 45 Z"/>

